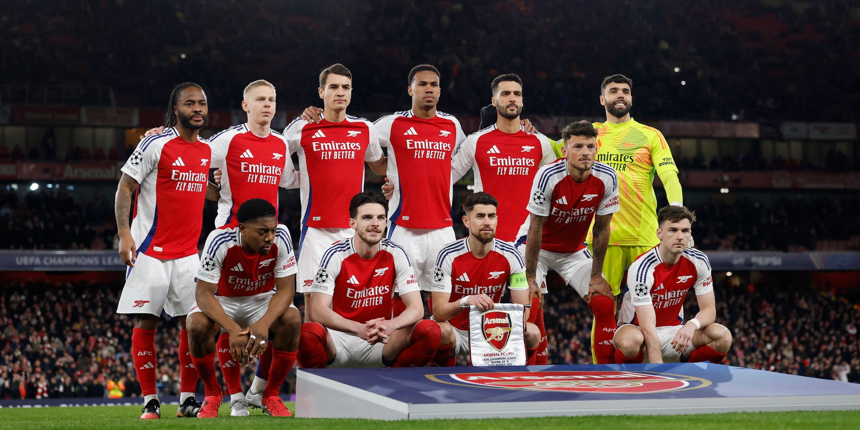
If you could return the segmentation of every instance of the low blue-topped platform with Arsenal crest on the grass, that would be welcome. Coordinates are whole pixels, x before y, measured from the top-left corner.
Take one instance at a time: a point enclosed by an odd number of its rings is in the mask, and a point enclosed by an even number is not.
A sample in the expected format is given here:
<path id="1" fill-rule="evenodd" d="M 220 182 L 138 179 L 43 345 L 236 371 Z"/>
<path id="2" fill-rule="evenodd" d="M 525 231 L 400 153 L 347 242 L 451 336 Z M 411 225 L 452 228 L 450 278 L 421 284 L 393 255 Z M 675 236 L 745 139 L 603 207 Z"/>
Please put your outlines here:
<path id="1" fill-rule="evenodd" d="M 860 384 L 710 363 L 299 369 L 304 418 L 504 418 L 860 409 Z"/>

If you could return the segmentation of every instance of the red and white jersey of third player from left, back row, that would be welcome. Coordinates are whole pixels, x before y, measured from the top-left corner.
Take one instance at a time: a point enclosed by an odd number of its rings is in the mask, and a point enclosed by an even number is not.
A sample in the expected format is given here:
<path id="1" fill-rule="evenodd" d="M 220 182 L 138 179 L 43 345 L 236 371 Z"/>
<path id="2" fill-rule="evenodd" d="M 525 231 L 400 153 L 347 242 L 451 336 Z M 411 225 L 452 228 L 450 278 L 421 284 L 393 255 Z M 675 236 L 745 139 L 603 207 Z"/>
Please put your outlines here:
<path id="1" fill-rule="evenodd" d="M 302 225 L 349 227 L 349 200 L 365 186 L 365 161 L 383 157 L 371 121 L 347 115 L 338 123 L 301 117 L 284 130 L 290 153 L 298 153 Z"/>

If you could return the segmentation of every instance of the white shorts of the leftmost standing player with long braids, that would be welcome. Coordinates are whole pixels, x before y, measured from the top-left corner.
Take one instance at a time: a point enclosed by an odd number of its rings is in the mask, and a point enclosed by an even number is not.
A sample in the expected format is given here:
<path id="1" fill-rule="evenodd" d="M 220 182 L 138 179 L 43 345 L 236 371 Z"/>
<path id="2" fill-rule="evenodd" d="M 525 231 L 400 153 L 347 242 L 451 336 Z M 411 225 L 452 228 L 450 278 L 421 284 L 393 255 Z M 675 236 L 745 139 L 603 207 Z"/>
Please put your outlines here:
<path id="1" fill-rule="evenodd" d="M 138 253 L 134 267 L 126 269 L 118 314 L 187 315 L 194 305 L 194 286 L 200 256 L 170 260 Z"/>

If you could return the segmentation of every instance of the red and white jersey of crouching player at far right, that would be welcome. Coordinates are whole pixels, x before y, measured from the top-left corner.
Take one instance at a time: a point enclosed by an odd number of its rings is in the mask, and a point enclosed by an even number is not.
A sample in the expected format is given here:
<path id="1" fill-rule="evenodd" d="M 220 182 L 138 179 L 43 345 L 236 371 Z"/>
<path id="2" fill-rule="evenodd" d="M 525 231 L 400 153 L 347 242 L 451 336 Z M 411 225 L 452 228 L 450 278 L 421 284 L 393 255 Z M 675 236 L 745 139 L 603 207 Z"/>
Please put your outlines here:
<path id="1" fill-rule="evenodd" d="M 624 295 L 621 322 L 638 325 L 636 306 L 653 305 L 657 327 L 679 325 L 684 320 L 684 300 L 690 287 L 697 296 L 714 291 L 708 256 L 687 248 L 672 267 L 660 258 L 659 245 L 639 255 L 627 269 L 630 291 Z M 624 319 L 620 319 L 624 318 Z"/>

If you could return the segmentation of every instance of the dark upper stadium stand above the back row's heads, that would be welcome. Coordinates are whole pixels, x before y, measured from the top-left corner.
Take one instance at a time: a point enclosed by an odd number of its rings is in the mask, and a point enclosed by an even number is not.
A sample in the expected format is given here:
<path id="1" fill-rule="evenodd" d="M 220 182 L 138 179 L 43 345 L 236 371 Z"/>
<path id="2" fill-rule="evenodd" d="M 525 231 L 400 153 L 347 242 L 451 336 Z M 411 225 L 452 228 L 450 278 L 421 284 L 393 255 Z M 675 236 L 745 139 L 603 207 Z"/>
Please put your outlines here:
<path id="1" fill-rule="evenodd" d="M 837 1 L 107 0 L 93 8 L 77 0 L 45 8 L 24 0 L 0 11 L 0 22 L 9 41 L 0 47 L 4 83 L 110 87 L 125 106 L 161 106 L 164 88 L 194 80 L 214 106 L 237 107 L 237 89 L 260 78 L 253 62 L 265 62 L 272 77 L 291 77 L 273 81 L 284 94 L 313 100 L 316 72 L 341 62 L 356 77 L 356 109 L 396 111 L 404 87 L 391 83 L 432 63 L 452 113 L 477 112 L 492 77 L 515 71 L 525 79 L 528 112 L 597 114 L 597 83 L 622 72 L 640 88 L 642 118 L 856 118 L 820 96 L 834 82 L 851 82 L 860 62 L 851 43 L 860 20 Z M 857 89 L 847 91 L 856 97 Z"/>

